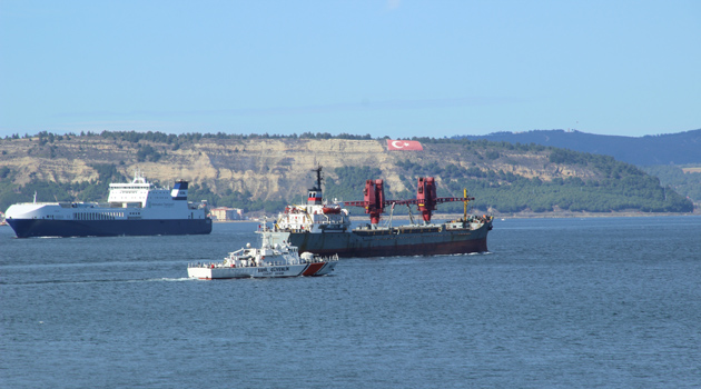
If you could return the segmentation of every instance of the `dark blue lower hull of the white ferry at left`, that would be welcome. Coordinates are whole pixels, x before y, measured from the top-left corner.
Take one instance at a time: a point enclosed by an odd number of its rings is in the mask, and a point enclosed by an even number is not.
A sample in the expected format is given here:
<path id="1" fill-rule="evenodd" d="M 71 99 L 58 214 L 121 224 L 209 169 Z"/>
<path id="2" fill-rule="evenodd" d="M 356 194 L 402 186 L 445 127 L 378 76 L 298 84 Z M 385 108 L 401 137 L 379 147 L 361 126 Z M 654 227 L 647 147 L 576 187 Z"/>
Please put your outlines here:
<path id="1" fill-rule="evenodd" d="M 207 235 L 210 219 L 190 220 L 42 220 L 8 219 L 18 238 Z"/>

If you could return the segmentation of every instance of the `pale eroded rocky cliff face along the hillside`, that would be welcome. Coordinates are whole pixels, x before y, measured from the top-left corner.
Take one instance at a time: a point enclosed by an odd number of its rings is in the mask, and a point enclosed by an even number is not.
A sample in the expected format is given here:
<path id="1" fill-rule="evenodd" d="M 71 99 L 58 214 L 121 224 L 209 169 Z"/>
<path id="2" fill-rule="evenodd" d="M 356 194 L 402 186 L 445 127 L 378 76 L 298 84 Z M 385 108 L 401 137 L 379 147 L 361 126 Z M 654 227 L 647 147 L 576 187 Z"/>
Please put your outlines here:
<path id="1" fill-rule="evenodd" d="M 404 189 L 399 176 L 406 174 L 397 162 L 405 161 L 421 166 L 452 163 L 465 169 L 502 170 L 542 180 L 572 176 L 589 179 L 598 174 L 586 167 L 550 163 L 547 149 L 537 152 L 500 149 L 495 153 L 490 147 L 476 144 L 440 142 L 423 146 L 424 151 L 387 151 L 385 140 L 206 138 L 175 147 L 165 142 L 141 140 L 135 143 L 100 136 L 52 142 L 34 137 L 0 140 L 0 167 L 18 172 L 14 183 L 23 184 L 32 178 L 58 182 L 95 180 L 98 174 L 91 164 L 112 163 L 126 177 L 134 176 L 138 168 L 149 180 L 158 180 L 164 186 L 185 179 L 206 183 L 217 193 L 227 189 L 248 190 L 267 200 L 292 199 L 304 193 L 314 180 L 310 169 L 319 164 L 330 178 L 335 178 L 334 169 L 339 167 L 379 168 L 383 177 L 368 179 L 383 178 L 397 191 Z M 436 179 L 440 183 L 441 177 Z"/>

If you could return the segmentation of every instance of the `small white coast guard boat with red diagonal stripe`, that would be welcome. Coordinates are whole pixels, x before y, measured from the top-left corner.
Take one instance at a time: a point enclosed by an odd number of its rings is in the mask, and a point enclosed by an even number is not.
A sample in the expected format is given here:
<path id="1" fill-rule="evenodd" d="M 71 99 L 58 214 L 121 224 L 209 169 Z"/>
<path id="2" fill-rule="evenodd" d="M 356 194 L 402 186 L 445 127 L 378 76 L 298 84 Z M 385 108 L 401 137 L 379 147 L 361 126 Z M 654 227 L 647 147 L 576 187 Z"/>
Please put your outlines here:
<path id="1" fill-rule="evenodd" d="M 300 276 L 326 276 L 334 271 L 338 256 L 318 257 L 310 252 L 299 256 L 296 247 L 287 242 L 270 243 L 270 230 L 265 226 L 260 233 L 260 248 L 245 248 L 229 252 L 221 262 L 190 263 L 189 278 L 203 280 L 225 278 L 278 278 Z"/>

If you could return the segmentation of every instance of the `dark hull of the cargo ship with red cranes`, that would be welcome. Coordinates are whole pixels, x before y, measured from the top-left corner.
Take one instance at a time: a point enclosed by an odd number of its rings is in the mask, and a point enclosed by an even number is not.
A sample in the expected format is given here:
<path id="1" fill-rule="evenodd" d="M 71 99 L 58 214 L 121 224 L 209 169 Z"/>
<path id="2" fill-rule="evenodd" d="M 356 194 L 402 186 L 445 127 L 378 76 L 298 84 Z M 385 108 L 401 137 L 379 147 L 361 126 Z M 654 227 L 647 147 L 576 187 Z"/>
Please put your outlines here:
<path id="1" fill-rule="evenodd" d="M 299 251 L 338 257 L 436 256 L 485 252 L 488 226 L 476 230 L 442 230 L 440 232 L 274 232 L 277 239 L 288 240 Z"/>

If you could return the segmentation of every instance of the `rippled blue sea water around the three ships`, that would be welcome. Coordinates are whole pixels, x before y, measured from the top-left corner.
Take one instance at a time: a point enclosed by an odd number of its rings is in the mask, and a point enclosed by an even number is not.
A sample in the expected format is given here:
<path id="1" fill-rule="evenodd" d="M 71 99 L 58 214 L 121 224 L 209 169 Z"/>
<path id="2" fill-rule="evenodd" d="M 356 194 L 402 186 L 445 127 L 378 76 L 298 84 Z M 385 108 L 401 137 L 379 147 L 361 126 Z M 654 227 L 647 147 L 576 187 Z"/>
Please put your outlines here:
<path id="1" fill-rule="evenodd" d="M 699 216 L 497 219 L 487 253 L 187 278 L 257 228 L 0 227 L 0 387 L 701 387 Z"/>

